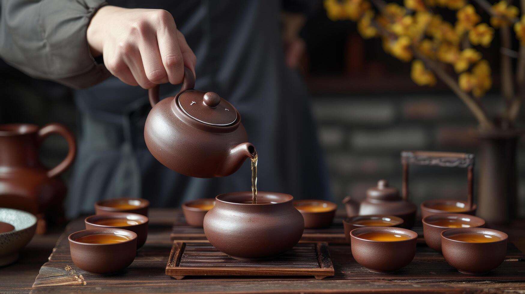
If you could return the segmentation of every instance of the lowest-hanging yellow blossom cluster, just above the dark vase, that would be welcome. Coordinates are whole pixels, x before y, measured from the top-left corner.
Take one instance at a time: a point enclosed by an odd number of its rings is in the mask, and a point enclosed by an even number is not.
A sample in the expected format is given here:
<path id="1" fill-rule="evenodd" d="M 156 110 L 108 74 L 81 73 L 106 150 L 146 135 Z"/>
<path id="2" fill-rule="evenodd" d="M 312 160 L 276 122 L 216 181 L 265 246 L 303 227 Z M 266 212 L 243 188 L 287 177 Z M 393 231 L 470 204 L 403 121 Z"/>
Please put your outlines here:
<path id="1" fill-rule="evenodd" d="M 459 87 L 466 92 L 472 91 L 476 97 L 481 97 L 492 87 L 490 66 L 487 60 L 481 60 L 472 68 L 472 72 L 459 75 Z"/>

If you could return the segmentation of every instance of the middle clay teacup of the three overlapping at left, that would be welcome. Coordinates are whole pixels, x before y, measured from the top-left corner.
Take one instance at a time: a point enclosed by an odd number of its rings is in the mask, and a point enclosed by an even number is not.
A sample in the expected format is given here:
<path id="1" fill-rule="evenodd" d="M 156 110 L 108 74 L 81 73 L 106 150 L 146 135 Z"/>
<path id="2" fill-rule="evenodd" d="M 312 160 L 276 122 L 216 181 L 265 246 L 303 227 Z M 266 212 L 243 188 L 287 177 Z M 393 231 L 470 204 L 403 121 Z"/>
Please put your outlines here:
<path id="1" fill-rule="evenodd" d="M 129 212 L 112 212 L 91 215 L 84 220 L 86 229 L 115 228 L 125 229 L 137 234 L 137 249 L 146 243 L 148 238 L 149 218 L 142 214 Z"/>

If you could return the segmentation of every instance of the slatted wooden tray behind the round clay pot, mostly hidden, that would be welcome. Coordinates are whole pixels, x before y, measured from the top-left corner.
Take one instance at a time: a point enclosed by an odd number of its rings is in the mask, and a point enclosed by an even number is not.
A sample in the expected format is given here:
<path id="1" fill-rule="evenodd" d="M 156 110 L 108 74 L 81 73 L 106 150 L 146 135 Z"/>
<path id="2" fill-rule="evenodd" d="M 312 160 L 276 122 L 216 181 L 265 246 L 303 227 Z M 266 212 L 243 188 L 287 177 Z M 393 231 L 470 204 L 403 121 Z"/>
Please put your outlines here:
<path id="1" fill-rule="evenodd" d="M 328 242 L 329 244 L 348 244 L 344 237 L 343 229 L 343 219 L 345 217 L 346 213 L 342 209 L 338 210 L 330 227 L 304 229 L 301 241 L 323 241 Z M 412 230 L 419 235 L 418 243 L 425 243 L 421 222 L 416 222 Z M 188 225 L 182 213 L 175 215 L 175 222 L 171 230 L 170 238 L 172 240 L 206 240 L 204 229 Z"/>

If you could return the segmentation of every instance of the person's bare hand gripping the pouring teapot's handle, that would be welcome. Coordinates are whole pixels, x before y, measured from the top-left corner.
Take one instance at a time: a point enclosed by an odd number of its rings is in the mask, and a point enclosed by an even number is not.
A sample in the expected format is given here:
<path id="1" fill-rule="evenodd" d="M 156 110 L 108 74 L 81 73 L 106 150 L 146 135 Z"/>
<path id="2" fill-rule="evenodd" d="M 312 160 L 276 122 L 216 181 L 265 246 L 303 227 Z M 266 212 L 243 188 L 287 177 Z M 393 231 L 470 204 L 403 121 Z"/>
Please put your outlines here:
<path id="1" fill-rule="evenodd" d="M 195 76 L 195 54 L 166 10 L 104 6 L 91 19 L 87 39 L 91 54 L 103 55 L 106 68 L 128 85 L 176 85 L 184 67 Z"/>

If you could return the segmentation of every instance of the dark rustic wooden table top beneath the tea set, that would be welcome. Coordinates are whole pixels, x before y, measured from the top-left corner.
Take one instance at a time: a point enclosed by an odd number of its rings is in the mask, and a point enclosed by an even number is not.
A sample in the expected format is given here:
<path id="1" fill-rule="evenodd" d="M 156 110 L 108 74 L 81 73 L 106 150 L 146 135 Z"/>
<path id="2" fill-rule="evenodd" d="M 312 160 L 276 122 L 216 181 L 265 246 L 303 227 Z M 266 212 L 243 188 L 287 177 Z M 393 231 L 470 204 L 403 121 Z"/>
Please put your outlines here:
<path id="1" fill-rule="evenodd" d="M 186 277 L 176 280 L 165 275 L 172 241 L 170 232 L 176 209 L 151 209 L 150 234 L 133 264 L 114 275 L 96 275 L 78 269 L 69 256 L 67 235 L 83 229 L 75 220 L 59 238 L 49 261 L 52 233 L 36 236 L 22 251 L 20 260 L 0 268 L 0 292 L 521 292 L 525 291 L 525 260 L 505 261 L 488 275 L 470 276 L 457 272 L 425 246 L 418 246 L 414 261 L 396 274 L 373 274 L 353 260 L 347 245 L 330 245 L 335 276 L 313 277 Z M 511 229 L 511 236 L 525 239 L 523 227 Z M 523 248 L 521 248 L 523 250 Z M 37 273 L 38 277 L 36 277 Z M 36 280 L 35 280 L 36 277 Z M 34 281 L 34 285 L 31 284 Z"/>

